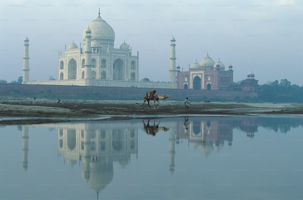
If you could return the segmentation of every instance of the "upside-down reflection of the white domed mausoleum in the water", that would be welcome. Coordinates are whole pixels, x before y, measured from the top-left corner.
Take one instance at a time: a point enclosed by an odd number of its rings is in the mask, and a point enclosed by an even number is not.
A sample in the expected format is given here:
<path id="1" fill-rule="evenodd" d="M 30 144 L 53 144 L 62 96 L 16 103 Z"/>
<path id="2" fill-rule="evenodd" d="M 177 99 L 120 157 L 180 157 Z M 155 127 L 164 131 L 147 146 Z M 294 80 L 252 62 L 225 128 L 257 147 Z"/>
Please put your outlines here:
<path id="1" fill-rule="evenodd" d="M 98 197 L 114 177 L 113 162 L 124 167 L 132 154 L 138 158 L 138 126 L 128 121 L 62 124 L 58 152 L 71 166 L 82 160 L 82 179 Z"/>

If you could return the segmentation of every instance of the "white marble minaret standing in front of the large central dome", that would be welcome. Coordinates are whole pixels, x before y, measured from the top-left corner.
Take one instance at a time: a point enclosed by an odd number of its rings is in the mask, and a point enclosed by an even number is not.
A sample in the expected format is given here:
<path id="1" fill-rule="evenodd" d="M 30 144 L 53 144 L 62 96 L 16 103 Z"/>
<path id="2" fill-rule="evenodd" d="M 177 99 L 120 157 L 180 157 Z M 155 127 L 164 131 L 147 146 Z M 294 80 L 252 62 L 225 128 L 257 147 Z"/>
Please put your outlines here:
<path id="1" fill-rule="evenodd" d="M 84 79 L 92 79 L 92 47 L 91 47 L 91 39 L 92 39 L 92 31 L 89 27 L 85 30 L 85 47 L 84 47 L 84 55 L 85 55 L 85 64 L 84 64 Z"/>

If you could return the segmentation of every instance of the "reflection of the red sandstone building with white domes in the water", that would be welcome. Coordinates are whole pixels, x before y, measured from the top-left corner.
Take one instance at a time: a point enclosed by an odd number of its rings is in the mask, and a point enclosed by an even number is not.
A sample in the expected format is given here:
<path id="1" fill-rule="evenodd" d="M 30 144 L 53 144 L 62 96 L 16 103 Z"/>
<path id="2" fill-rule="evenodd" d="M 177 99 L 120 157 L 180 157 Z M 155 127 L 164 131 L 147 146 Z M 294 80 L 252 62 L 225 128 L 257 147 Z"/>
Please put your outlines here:
<path id="1" fill-rule="evenodd" d="M 255 132 L 258 132 L 257 117 L 188 117 L 184 122 L 178 121 L 176 128 L 176 143 L 188 139 L 194 149 L 200 149 L 206 157 L 214 149 L 219 151 L 224 146 L 224 141 L 228 141 L 228 146 L 232 145 L 232 133 L 234 128 L 240 128 L 247 137 L 252 139 Z"/>

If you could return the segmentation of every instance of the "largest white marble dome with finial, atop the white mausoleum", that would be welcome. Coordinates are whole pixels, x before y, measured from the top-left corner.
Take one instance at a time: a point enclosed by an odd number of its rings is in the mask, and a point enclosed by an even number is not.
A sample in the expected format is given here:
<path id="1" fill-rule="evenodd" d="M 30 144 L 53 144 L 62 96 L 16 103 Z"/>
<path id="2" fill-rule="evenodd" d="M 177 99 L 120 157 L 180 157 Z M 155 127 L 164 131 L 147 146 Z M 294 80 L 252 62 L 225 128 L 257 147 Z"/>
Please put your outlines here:
<path id="1" fill-rule="evenodd" d="M 92 33 L 92 41 L 99 41 L 102 44 L 114 45 L 115 32 L 114 29 L 99 16 L 92 21 L 83 31 L 83 42 L 85 44 L 85 30 L 90 28 Z"/>

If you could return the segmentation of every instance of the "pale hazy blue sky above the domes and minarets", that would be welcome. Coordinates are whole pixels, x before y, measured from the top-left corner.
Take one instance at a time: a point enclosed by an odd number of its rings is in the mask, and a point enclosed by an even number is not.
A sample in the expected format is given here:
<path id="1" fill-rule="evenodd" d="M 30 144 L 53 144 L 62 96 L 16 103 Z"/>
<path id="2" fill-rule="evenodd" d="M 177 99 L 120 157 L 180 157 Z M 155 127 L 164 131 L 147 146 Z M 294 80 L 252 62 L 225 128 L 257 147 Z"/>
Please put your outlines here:
<path id="1" fill-rule="evenodd" d="M 234 82 L 252 71 L 259 84 L 287 78 L 303 85 L 303 1 L 23 1 L 0 4 L 1 75 L 23 75 L 24 38 L 29 41 L 30 80 L 58 79 L 58 51 L 73 41 L 83 47 L 85 27 L 98 17 L 139 51 L 139 79 L 169 81 L 170 39 L 176 64 L 188 71 L 207 54 L 231 63 Z"/>

